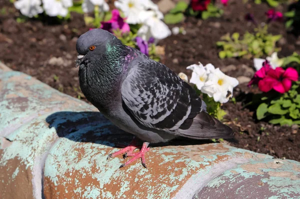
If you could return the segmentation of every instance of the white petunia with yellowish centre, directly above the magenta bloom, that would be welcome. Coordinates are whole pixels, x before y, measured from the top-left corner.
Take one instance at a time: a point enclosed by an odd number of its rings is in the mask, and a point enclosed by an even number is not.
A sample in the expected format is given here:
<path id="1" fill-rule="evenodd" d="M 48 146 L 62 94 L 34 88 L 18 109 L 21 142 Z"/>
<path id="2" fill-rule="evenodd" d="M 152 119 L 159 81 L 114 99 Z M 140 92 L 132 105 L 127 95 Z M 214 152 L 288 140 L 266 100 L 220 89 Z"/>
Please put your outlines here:
<path id="1" fill-rule="evenodd" d="M 141 23 L 140 12 L 144 10 L 141 0 L 117 0 L 114 1 L 114 6 L 122 10 L 127 23 Z"/>

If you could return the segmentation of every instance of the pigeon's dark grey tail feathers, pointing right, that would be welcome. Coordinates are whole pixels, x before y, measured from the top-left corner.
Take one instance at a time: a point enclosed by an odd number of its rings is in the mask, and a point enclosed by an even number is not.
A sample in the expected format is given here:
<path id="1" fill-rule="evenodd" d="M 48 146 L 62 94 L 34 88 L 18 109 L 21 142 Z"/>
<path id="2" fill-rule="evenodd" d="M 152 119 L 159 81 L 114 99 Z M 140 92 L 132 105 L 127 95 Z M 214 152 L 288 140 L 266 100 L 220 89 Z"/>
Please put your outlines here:
<path id="1" fill-rule="evenodd" d="M 178 135 L 192 139 L 233 138 L 232 129 L 207 112 L 198 113 L 188 129 L 178 129 Z"/>

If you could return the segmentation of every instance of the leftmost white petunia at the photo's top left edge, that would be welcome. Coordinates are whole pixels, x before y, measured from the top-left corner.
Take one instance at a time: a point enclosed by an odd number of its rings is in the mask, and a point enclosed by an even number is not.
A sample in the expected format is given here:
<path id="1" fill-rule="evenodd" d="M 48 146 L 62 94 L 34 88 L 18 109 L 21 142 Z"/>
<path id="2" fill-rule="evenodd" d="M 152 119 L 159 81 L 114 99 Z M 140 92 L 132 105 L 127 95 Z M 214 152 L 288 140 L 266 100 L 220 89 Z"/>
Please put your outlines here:
<path id="1" fill-rule="evenodd" d="M 15 8 L 19 9 L 23 15 L 28 17 L 32 17 L 43 12 L 40 4 L 40 0 L 17 0 L 14 2 Z"/>

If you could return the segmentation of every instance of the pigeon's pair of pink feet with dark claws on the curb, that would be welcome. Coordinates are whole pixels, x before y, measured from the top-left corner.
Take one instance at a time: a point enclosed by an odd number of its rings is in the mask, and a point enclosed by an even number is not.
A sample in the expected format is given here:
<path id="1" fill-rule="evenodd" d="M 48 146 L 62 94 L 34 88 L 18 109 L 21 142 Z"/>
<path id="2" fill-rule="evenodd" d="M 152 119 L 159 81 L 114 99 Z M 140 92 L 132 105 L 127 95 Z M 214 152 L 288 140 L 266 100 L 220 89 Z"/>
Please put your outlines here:
<path id="1" fill-rule="evenodd" d="M 148 147 L 148 145 L 149 145 L 149 142 L 143 142 L 142 147 L 139 150 L 139 152 L 133 153 L 133 150 L 135 148 L 137 148 L 135 146 L 135 139 L 133 139 L 128 146 L 126 146 L 125 148 L 118 150 L 114 153 L 109 154 L 108 157 L 114 157 L 116 155 L 124 153 L 124 157 L 132 156 L 132 158 L 129 159 L 128 161 L 126 161 L 125 163 L 121 164 L 119 168 L 132 163 L 134 160 L 136 160 L 138 158 L 141 158 L 141 164 L 146 168 L 147 166 L 146 166 L 146 161 L 145 161 L 145 153 L 150 149 L 150 147 Z M 108 157 L 107 157 L 107 159 L 108 159 Z"/>

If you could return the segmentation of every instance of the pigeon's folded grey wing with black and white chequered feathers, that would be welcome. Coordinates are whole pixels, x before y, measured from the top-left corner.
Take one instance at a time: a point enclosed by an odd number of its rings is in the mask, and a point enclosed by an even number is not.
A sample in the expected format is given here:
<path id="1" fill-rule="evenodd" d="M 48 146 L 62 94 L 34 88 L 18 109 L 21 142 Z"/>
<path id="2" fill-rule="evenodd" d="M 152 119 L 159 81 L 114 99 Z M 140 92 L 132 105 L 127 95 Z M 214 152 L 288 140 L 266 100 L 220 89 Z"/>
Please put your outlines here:
<path id="1" fill-rule="evenodd" d="M 205 103 L 195 90 L 165 65 L 145 59 L 128 69 L 121 96 L 142 125 L 199 139 L 213 137 L 213 132 L 222 131 L 219 127 L 224 129 L 225 125 L 205 112 Z M 196 117 L 200 112 L 205 114 L 203 119 Z"/>

